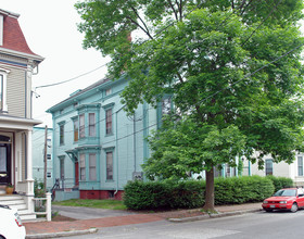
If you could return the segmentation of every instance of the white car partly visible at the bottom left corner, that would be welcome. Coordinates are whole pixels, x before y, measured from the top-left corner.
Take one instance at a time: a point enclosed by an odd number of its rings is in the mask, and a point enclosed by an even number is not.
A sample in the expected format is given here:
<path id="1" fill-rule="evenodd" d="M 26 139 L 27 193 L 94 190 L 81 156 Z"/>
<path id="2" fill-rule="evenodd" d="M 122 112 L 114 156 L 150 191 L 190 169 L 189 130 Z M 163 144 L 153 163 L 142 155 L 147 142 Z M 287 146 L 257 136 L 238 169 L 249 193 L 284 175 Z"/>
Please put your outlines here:
<path id="1" fill-rule="evenodd" d="M 0 205 L 0 239 L 24 239 L 25 235 L 17 210 Z"/>

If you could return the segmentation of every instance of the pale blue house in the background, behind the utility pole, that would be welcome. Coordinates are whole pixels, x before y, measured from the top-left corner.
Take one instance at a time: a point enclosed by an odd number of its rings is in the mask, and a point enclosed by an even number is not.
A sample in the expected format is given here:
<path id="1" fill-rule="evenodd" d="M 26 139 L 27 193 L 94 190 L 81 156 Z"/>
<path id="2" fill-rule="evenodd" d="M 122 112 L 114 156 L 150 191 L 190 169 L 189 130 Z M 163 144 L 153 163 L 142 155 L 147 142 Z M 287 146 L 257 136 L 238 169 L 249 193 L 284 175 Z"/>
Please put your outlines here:
<path id="1" fill-rule="evenodd" d="M 53 187 L 53 156 L 52 156 L 53 129 L 45 127 L 33 128 L 33 178 L 37 183 L 45 181 L 45 147 L 47 146 L 47 190 Z M 47 142 L 46 142 L 47 139 Z"/>

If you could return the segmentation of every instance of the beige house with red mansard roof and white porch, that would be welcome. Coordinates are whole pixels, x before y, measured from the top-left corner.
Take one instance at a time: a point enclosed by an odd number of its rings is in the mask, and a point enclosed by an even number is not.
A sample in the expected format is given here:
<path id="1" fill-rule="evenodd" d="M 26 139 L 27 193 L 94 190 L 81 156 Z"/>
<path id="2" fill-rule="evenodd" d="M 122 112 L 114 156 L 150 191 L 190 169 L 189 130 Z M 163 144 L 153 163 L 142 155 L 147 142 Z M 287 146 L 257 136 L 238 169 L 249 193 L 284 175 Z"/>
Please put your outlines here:
<path id="1" fill-rule="evenodd" d="M 34 53 L 18 24 L 18 14 L 0 9 L 0 204 L 10 204 L 12 184 L 16 207 L 34 212 L 31 76 L 43 58 Z"/>

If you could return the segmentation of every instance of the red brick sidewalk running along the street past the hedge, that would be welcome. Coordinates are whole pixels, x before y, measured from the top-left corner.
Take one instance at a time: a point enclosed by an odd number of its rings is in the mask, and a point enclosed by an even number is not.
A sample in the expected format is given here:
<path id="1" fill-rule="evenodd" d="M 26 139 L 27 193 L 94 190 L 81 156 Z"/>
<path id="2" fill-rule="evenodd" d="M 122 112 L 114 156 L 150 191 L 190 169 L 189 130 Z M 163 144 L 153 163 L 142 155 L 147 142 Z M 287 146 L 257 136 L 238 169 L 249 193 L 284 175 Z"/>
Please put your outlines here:
<path id="1" fill-rule="evenodd" d="M 24 223 L 24 226 L 26 227 L 27 232 L 26 238 L 54 238 L 59 236 L 72 236 L 96 232 L 97 228 L 102 227 L 143 224 L 164 219 L 181 223 L 198 219 L 207 219 L 211 217 L 237 215 L 248 212 L 256 212 L 262 210 L 262 203 L 220 205 L 215 206 L 215 209 L 218 212 L 218 214 L 202 214 L 199 213 L 200 210 L 180 210 L 162 213 L 138 213 L 131 215 L 111 216 L 92 219 L 77 219 L 73 222 Z"/>

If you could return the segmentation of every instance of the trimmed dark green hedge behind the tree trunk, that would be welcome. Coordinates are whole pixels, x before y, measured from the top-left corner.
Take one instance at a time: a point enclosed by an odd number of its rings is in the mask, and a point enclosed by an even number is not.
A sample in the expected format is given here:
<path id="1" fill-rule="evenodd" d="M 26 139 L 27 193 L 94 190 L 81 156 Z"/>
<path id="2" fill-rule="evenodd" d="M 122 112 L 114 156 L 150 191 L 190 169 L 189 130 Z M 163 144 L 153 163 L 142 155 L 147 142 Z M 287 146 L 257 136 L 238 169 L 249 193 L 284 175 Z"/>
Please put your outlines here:
<path id="1" fill-rule="evenodd" d="M 215 204 L 261 202 L 274 193 L 273 181 L 261 176 L 215 178 Z M 126 185 L 124 203 L 131 210 L 194 209 L 203 206 L 204 193 L 204 180 L 136 180 Z"/>

